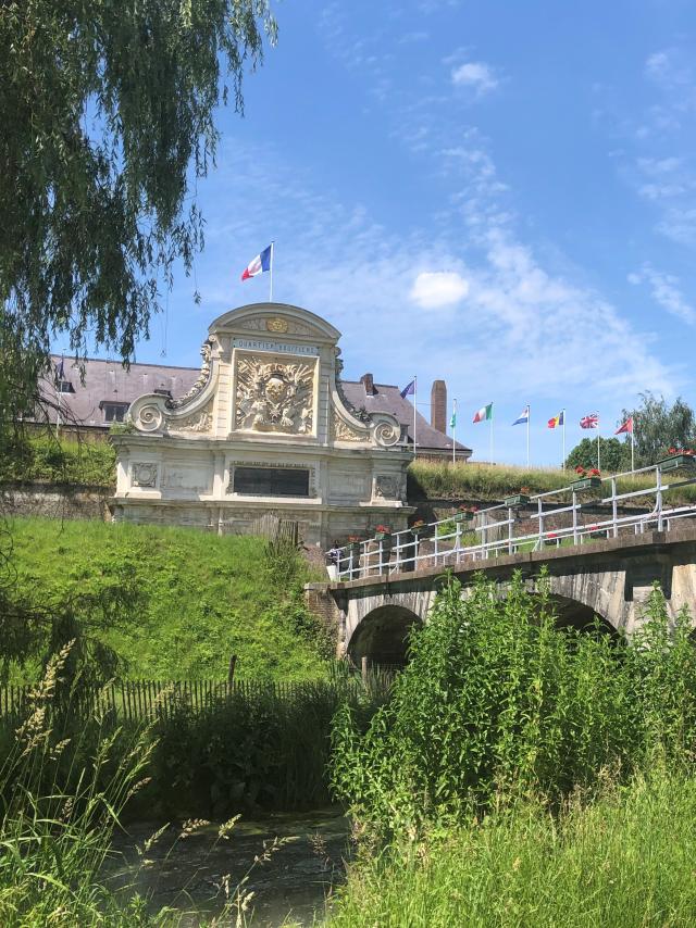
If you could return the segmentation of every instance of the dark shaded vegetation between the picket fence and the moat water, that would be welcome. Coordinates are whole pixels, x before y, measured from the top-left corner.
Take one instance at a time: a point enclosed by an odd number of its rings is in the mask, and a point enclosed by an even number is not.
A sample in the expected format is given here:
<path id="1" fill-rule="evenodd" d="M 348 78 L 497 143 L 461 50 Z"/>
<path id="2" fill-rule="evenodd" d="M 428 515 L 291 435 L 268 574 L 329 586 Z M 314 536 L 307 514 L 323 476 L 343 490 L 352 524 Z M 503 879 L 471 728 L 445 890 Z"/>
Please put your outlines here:
<path id="1" fill-rule="evenodd" d="M 249 810 L 324 807 L 332 801 L 327 765 L 338 706 L 349 705 L 364 726 L 388 690 L 378 678 L 368 687 L 334 678 L 283 693 L 236 690 L 203 712 L 182 701 L 156 726 L 152 780 L 141 801 L 165 818 L 217 820 Z"/>

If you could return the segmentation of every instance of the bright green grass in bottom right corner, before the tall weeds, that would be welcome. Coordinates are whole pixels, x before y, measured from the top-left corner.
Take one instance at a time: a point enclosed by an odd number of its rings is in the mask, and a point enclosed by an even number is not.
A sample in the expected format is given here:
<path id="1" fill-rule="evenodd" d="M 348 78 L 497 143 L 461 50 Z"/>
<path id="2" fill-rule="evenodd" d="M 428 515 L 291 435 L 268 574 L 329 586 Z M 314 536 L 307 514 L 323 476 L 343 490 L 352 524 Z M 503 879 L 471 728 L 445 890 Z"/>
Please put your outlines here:
<path id="1" fill-rule="evenodd" d="M 696 781 L 660 769 L 560 816 L 538 802 L 363 852 L 328 928 L 688 928 Z"/>

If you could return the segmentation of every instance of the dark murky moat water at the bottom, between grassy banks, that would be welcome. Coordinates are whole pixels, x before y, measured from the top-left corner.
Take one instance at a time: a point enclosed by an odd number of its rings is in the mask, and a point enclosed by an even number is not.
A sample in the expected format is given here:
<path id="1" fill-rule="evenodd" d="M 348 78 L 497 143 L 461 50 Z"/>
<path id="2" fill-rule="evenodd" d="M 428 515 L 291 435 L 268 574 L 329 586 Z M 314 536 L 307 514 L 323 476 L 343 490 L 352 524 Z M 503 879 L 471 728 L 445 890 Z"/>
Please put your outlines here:
<path id="1" fill-rule="evenodd" d="M 253 893 L 245 925 L 276 928 L 322 921 L 351 852 L 350 825 L 340 812 L 243 817 L 226 840 L 219 838 L 219 828 L 204 825 L 182 838 L 182 828 L 172 826 L 140 854 L 138 848 L 157 826 L 128 825 L 113 841 L 110 881 L 136 889 L 152 912 L 171 907 L 181 916 L 177 924 L 187 928 L 220 916 L 225 883 L 231 898 L 238 886 L 243 895 Z M 235 925 L 236 917 L 235 910 L 227 924 Z"/>

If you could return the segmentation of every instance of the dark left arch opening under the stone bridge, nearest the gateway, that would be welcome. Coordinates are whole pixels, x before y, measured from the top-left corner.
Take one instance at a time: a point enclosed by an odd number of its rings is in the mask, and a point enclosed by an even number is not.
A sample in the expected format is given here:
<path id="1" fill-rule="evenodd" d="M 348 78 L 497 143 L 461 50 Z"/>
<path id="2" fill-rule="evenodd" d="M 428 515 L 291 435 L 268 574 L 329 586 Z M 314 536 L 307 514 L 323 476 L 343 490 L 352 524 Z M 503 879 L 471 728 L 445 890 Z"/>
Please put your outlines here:
<path id="1" fill-rule="evenodd" d="M 421 616 L 412 610 L 387 603 L 373 609 L 360 620 L 348 641 L 348 655 L 360 666 L 370 663 L 403 666 L 408 662 L 408 638 Z"/>

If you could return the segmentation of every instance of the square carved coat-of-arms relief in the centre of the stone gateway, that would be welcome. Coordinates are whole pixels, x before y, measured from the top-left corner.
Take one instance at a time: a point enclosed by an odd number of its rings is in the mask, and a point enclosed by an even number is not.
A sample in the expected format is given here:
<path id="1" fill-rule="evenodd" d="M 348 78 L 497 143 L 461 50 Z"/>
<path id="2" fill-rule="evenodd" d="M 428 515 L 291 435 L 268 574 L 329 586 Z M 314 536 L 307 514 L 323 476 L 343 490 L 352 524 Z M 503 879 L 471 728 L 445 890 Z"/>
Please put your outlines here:
<path id="1" fill-rule="evenodd" d="M 237 365 L 237 428 L 310 434 L 313 385 L 313 365 L 241 358 Z"/>

